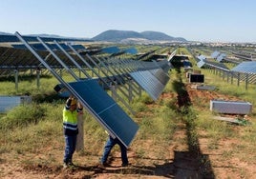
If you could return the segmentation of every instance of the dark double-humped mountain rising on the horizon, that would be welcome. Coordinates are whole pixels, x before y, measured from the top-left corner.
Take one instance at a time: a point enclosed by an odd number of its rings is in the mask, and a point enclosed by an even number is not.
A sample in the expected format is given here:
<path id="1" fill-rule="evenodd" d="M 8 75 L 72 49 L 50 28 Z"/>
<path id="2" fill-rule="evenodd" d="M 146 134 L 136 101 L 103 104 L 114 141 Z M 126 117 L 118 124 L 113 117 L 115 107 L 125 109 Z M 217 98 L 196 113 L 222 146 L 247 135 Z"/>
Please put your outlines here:
<path id="1" fill-rule="evenodd" d="M 91 40 L 94 41 L 109 41 L 120 42 L 138 39 L 139 41 L 180 41 L 186 42 L 182 37 L 172 37 L 159 31 L 142 31 L 137 32 L 133 30 L 106 30 L 96 35 Z"/>

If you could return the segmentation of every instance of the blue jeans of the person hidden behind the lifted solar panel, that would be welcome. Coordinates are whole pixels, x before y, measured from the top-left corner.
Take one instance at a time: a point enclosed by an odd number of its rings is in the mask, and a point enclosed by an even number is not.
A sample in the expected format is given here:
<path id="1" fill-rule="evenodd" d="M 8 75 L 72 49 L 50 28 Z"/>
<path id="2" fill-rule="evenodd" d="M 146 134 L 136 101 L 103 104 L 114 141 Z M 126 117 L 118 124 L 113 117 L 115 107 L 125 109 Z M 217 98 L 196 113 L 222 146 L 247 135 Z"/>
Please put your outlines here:
<path id="1" fill-rule="evenodd" d="M 117 138 L 113 139 L 111 136 L 109 136 L 108 141 L 106 142 L 105 147 L 104 147 L 104 152 L 103 152 L 103 155 L 101 157 L 101 163 L 102 164 L 107 162 L 110 151 L 116 144 L 120 147 L 120 150 L 121 150 L 122 164 L 124 164 L 124 165 L 128 164 L 126 147 Z"/>

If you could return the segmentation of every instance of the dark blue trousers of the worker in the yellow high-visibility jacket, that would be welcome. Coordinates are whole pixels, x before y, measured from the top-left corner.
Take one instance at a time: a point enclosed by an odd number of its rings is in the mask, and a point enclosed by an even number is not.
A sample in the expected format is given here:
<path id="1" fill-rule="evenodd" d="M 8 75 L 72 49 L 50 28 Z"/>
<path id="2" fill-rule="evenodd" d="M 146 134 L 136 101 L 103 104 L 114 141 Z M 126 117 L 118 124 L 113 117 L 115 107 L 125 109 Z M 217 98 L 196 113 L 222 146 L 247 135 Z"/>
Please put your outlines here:
<path id="1" fill-rule="evenodd" d="M 73 154 L 75 152 L 76 135 L 65 135 L 65 163 L 72 163 Z"/>

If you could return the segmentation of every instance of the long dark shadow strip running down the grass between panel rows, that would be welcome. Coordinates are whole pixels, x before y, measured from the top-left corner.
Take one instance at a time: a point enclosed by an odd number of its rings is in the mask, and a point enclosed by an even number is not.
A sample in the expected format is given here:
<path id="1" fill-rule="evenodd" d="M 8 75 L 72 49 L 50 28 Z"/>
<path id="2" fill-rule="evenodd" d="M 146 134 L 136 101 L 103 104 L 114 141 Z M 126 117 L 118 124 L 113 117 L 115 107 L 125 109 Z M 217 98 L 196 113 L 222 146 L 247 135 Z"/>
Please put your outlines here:
<path id="1" fill-rule="evenodd" d="M 178 94 L 178 112 L 185 124 L 188 151 L 175 151 L 174 167 L 176 178 L 215 178 L 209 156 L 202 153 L 196 131 L 196 115 L 191 111 L 189 93 L 178 71 L 178 80 L 173 82 L 173 89 Z"/>

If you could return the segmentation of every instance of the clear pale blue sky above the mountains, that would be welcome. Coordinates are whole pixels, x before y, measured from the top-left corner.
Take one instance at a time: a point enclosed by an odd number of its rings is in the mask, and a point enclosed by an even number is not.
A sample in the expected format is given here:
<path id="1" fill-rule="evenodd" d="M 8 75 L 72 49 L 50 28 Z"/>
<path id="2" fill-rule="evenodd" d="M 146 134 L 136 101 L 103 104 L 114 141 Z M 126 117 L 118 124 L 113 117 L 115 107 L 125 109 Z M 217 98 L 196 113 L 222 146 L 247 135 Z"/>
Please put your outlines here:
<path id="1" fill-rule="evenodd" d="M 255 0 L 0 0 L 0 31 L 93 38 L 160 31 L 202 42 L 256 42 Z"/>

